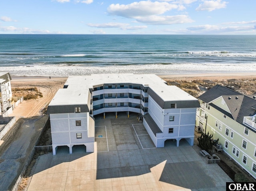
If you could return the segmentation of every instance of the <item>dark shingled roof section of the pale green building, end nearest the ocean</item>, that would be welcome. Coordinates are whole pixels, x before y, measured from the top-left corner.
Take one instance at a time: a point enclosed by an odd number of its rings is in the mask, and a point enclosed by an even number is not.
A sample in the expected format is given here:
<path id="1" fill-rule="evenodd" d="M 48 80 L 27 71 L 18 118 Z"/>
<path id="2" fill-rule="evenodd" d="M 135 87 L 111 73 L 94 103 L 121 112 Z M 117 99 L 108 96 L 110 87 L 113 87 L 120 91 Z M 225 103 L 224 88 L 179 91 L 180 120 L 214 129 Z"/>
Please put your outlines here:
<path id="1" fill-rule="evenodd" d="M 209 103 L 212 100 L 215 100 L 216 98 L 223 96 L 223 95 L 242 95 L 232 89 L 228 89 L 221 85 L 216 85 L 212 87 L 210 90 L 206 91 L 202 95 L 198 97 L 198 99 Z"/>

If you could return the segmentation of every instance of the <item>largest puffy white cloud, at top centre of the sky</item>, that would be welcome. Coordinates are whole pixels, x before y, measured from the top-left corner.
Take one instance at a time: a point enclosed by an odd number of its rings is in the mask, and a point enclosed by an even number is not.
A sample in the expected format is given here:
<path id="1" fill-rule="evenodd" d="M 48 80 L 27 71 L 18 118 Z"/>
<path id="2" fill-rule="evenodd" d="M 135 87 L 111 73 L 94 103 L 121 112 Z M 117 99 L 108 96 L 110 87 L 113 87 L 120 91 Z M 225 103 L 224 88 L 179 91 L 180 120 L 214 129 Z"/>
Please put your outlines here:
<path id="1" fill-rule="evenodd" d="M 108 7 L 108 13 L 125 18 L 136 18 L 138 16 L 164 14 L 172 9 L 183 10 L 185 7 L 182 5 L 169 4 L 167 2 L 151 2 L 148 0 L 133 2 L 127 5 L 111 4 Z"/>

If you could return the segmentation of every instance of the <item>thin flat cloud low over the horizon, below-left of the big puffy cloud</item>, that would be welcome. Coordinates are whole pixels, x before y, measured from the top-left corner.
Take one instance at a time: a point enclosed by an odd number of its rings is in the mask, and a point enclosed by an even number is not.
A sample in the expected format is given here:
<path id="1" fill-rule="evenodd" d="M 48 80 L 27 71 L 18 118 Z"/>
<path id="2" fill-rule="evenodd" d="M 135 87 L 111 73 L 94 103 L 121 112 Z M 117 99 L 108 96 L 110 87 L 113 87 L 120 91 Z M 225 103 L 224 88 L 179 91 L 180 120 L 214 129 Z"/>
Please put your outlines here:
<path id="1" fill-rule="evenodd" d="M 120 28 L 122 30 L 141 30 L 147 28 L 147 26 L 130 26 L 130 24 L 126 23 L 103 23 L 103 24 L 87 24 L 90 27 L 96 28 Z"/>

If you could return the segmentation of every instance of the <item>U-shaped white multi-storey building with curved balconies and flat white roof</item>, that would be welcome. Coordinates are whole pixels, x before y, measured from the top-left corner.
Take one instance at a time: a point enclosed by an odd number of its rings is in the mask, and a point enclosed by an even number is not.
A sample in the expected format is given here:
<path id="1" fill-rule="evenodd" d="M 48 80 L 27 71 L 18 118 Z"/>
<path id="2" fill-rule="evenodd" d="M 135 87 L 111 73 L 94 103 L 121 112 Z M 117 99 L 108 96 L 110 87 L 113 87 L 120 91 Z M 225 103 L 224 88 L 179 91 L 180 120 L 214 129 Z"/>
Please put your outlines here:
<path id="1" fill-rule="evenodd" d="M 53 154 L 58 146 L 85 145 L 94 151 L 93 116 L 138 113 L 156 147 L 166 140 L 194 143 L 198 100 L 156 75 L 100 74 L 70 76 L 48 106 Z"/>

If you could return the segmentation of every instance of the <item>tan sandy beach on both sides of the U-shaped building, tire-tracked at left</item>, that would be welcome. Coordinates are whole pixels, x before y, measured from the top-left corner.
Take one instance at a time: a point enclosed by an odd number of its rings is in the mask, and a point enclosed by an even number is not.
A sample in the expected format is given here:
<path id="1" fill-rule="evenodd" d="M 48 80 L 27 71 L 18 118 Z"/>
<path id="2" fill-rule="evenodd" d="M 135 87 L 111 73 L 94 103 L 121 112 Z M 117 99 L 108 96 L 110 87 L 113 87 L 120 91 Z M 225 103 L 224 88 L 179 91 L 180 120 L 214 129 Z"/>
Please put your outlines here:
<path id="1" fill-rule="evenodd" d="M 227 79 L 256 79 L 256 73 L 205 73 L 190 75 L 158 75 L 165 81 L 194 81 L 194 80 L 212 80 L 222 81 Z M 41 115 L 44 108 L 52 100 L 58 89 L 62 88 L 67 77 L 29 77 L 29 76 L 12 76 L 12 89 L 16 87 L 37 87 L 42 92 L 43 97 L 33 100 L 25 100 L 13 111 L 12 116 L 16 118 L 27 118 Z M 24 95 L 25 96 L 25 95 Z"/>

